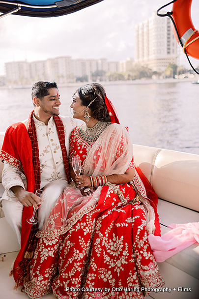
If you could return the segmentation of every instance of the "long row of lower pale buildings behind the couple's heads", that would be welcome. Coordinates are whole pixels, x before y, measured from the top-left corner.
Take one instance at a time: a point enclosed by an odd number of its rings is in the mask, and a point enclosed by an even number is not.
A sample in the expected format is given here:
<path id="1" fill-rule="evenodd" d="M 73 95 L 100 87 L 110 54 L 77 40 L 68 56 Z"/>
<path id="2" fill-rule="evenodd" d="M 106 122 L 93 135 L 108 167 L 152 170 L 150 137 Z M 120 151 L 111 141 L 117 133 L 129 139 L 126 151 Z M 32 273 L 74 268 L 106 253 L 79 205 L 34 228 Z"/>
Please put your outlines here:
<path id="1" fill-rule="evenodd" d="M 105 76 L 130 71 L 134 60 L 73 59 L 71 56 L 35 61 L 9 61 L 5 63 L 7 84 L 33 84 L 37 80 L 71 83 L 76 80 L 92 81 L 93 76 Z"/>

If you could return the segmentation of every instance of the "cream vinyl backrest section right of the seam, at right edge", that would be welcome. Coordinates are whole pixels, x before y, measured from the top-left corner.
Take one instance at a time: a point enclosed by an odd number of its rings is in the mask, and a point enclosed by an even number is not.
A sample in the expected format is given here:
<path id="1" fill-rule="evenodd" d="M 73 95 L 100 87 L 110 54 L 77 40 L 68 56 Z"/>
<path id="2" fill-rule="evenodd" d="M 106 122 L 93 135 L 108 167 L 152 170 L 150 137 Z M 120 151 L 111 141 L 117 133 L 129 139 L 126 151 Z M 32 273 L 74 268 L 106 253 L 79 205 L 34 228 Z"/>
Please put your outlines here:
<path id="1" fill-rule="evenodd" d="M 159 198 L 199 211 L 199 155 L 161 150 L 155 159 L 152 186 Z"/>

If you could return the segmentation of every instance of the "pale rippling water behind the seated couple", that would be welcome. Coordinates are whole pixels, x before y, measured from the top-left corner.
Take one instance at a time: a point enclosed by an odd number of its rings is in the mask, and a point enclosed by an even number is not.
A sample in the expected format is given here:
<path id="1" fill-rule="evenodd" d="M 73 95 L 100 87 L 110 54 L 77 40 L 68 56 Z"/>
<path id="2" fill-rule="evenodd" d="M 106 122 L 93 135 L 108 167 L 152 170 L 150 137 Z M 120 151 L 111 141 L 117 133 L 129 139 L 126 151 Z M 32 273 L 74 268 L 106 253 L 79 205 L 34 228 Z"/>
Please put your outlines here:
<path id="1" fill-rule="evenodd" d="M 60 87 L 60 115 L 71 115 L 74 91 Z M 199 85 L 191 82 L 105 85 L 134 144 L 199 154 Z M 0 131 L 28 118 L 30 89 L 0 89 Z"/>

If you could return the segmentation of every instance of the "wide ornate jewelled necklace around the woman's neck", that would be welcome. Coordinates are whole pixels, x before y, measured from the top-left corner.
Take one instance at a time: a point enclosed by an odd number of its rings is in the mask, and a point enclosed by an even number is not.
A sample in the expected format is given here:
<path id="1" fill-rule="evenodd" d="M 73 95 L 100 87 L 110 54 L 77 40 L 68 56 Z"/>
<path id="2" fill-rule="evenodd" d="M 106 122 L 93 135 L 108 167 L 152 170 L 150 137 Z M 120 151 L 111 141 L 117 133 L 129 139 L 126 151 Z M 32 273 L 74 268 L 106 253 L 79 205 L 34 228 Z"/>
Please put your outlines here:
<path id="1" fill-rule="evenodd" d="M 110 124 L 111 122 L 98 121 L 93 128 L 88 128 L 85 124 L 83 124 L 80 127 L 80 136 L 86 142 L 95 142 Z"/>

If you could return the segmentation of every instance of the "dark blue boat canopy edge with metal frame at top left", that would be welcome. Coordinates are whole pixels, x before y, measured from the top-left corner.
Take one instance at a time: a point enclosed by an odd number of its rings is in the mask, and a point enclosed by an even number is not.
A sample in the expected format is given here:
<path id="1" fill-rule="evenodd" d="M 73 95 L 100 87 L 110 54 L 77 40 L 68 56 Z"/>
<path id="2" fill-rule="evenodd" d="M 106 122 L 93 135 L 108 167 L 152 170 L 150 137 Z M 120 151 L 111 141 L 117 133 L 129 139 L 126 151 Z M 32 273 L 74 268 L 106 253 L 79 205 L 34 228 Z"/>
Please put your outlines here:
<path id="1" fill-rule="evenodd" d="M 101 1 L 103 0 L 0 0 L 0 12 L 2 12 L 0 18 L 13 13 L 28 17 L 58 17 L 73 13 Z"/>

